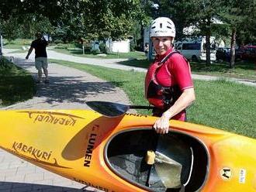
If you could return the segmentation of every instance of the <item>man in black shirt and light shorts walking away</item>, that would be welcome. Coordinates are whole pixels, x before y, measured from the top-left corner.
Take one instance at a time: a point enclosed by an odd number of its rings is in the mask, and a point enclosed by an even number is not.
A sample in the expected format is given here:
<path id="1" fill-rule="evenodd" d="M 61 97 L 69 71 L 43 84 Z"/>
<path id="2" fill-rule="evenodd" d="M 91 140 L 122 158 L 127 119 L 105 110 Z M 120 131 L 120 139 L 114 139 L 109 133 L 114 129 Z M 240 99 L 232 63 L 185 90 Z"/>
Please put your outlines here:
<path id="1" fill-rule="evenodd" d="M 42 82 L 42 74 L 45 75 L 44 83 L 48 84 L 48 62 L 47 62 L 47 45 L 48 42 L 44 39 L 41 33 L 36 33 L 36 39 L 33 40 L 31 46 L 29 48 L 29 52 L 26 55 L 26 60 L 29 59 L 29 55 L 32 53 L 33 49 L 35 49 L 35 66 L 38 71 L 38 77 L 36 80 L 36 84 L 40 84 Z M 42 73 L 43 69 L 43 73 Z"/>

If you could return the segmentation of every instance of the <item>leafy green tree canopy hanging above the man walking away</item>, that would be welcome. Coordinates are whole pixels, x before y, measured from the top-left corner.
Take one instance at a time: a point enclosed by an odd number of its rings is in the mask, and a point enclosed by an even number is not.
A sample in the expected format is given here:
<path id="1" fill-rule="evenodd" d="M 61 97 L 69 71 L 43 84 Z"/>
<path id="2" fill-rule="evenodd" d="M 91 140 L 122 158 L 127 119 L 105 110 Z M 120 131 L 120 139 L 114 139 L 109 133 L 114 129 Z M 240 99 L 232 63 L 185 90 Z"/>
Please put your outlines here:
<path id="1" fill-rule="evenodd" d="M 36 28 L 34 22 L 40 17 L 47 17 L 55 26 L 56 32 L 62 33 L 65 41 L 78 39 L 81 36 L 92 39 L 124 39 L 129 36 L 133 28 L 133 20 L 144 19 L 144 12 L 140 0 L 3 0 L 0 7 L 0 17 L 9 18 L 10 15 L 24 19 L 23 26 L 27 26 L 29 33 Z M 60 35 L 60 33 L 58 33 Z"/>

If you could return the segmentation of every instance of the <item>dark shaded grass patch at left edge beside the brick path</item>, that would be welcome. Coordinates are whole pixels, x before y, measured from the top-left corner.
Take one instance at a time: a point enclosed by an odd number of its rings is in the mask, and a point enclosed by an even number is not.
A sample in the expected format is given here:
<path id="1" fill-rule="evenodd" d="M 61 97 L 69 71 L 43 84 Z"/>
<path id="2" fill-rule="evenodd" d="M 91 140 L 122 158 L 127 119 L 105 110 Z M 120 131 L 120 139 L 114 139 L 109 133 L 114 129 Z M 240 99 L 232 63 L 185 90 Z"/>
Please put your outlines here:
<path id="1" fill-rule="evenodd" d="M 0 106 L 26 101 L 36 93 L 33 77 L 8 60 L 5 67 L 0 66 L 0 77 Z"/>

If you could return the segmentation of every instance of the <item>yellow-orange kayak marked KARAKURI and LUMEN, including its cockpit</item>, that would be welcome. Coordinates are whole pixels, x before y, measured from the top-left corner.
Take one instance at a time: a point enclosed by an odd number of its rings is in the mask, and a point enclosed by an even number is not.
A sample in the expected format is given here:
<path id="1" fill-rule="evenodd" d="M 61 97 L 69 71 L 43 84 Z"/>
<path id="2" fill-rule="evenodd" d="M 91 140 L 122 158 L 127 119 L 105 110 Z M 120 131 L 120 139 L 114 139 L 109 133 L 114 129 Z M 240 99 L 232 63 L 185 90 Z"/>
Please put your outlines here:
<path id="1" fill-rule="evenodd" d="M 256 191 L 256 140 L 155 117 L 90 110 L 0 111 L 0 147 L 104 191 Z"/>

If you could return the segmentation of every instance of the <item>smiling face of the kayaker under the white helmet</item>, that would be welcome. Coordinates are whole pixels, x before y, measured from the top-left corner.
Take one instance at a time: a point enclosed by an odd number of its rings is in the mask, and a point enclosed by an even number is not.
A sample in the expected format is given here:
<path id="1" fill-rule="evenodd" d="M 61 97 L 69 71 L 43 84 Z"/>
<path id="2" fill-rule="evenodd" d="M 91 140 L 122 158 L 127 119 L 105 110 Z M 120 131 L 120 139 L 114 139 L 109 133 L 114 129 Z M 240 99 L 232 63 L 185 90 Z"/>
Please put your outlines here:
<path id="1" fill-rule="evenodd" d="M 152 37 L 154 50 L 158 55 L 164 55 L 171 48 L 171 36 Z"/>

